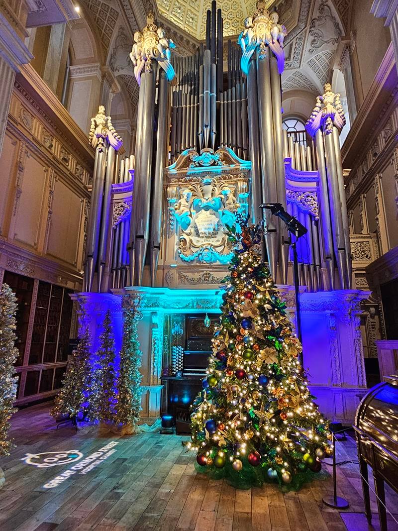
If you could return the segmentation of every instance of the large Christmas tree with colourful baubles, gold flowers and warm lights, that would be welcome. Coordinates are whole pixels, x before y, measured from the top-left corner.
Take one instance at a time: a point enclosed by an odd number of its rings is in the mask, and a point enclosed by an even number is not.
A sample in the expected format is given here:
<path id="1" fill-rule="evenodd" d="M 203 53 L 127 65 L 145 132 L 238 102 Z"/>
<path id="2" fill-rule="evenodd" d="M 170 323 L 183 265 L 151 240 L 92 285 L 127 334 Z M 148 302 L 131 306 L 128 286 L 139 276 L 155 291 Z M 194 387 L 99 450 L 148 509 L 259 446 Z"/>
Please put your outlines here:
<path id="1" fill-rule="evenodd" d="M 233 227 L 235 253 L 203 391 L 192 407 L 197 469 L 238 488 L 279 482 L 298 489 L 331 453 L 300 365 L 301 345 L 262 262 L 259 226 Z"/>

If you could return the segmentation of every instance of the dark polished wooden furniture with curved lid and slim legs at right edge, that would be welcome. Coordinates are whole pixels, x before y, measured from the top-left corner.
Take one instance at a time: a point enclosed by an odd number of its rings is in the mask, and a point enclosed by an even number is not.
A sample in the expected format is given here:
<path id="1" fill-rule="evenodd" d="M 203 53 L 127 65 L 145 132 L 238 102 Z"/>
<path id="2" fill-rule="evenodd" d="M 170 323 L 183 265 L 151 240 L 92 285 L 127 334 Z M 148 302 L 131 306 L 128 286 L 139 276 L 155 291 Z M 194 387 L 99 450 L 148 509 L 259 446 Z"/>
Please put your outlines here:
<path id="1" fill-rule="evenodd" d="M 354 430 L 366 517 L 370 523 L 369 465 L 375 481 L 380 529 L 387 531 L 384 482 L 398 493 L 398 375 L 385 378 L 364 396 Z"/>

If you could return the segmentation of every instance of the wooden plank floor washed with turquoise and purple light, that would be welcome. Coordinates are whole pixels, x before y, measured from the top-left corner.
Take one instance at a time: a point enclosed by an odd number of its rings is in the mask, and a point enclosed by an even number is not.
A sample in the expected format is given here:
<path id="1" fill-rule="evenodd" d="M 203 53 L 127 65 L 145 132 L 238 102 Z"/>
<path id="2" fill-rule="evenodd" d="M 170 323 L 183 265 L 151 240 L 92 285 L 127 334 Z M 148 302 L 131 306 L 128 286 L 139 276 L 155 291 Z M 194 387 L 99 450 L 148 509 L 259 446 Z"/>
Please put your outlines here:
<path id="1" fill-rule="evenodd" d="M 34 406 L 13 417 L 16 448 L 0 462 L 6 475 L 0 490 L 1 531 L 373 529 L 363 515 L 357 465 L 338 467 L 340 494 L 350 502 L 349 509 L 338 512 L 322 503 L 322 497 L 332 493 L 331 477 L 285 495 L 274 485 L 236 491 L 196 474 L 194 456 L 181 448 L 180 436 L 144 433 L 99 438 L 94 427 L 77 433 L 71 427 L 56 430 L 48 409 L 48 404 Z M 108 459 L 52 489 L 44 484 L 73 464 L 39 468 L 21 460 L 27 453 L 71 450 L 81 451 L 84 459 L 110 441 L 118 444 Z M 338 443 L 337 448 L 338 460 L 356 459 L 352 439 Z M 398 512 L 398 496 L 388 489 L 387 507 Z M 374 496 L 372 508 L 376 512 Z M 398 529 L 391 518 L 389 522 L 390 531 Z M 373 523 L 378 529 L 376 515 Z"/>

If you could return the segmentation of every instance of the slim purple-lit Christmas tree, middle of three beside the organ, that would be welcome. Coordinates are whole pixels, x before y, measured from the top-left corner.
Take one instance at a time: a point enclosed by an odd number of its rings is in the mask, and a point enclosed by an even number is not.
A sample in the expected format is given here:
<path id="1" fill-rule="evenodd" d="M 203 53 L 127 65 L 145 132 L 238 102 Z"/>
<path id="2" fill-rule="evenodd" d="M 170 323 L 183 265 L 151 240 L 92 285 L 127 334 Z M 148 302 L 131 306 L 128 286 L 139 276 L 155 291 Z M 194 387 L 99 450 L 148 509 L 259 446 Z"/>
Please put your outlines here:
<path id="1" fill-rule="evenodd" d="M 105 314 L 99 343 L 100 347 L 94 359 L 96 369 L 91 386 L 91 405 L 93 411 L 96 412 L 96 418 L 101 423 L 114 423 L 118 397 L 116 391 L 115 338 L 109 310 Z"/>

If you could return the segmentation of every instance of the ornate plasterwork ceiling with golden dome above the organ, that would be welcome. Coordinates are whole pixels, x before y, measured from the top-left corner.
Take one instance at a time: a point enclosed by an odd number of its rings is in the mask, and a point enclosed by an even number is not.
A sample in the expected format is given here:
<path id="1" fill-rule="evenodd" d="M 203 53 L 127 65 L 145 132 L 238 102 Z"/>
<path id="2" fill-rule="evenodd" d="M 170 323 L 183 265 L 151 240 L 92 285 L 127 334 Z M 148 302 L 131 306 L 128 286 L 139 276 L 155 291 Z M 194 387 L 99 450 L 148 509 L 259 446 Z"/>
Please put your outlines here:
<path id="1" fill-rule="evenodd" d="M 107 64 L 123 85 L 135 115 L 138 99 L 128 53 L 132 35 L 145 25 L 152 9 L 177 45 L 176 52 L 190 55 L 204 38 L 207 8 L 211 0 L 81 0 L 96 24 Z M 316 93 L 331 80 L 335 52 L 347 35 L 350 0 L 268 0 L 276 6 L 288 30 L 285 39 L 285 70 L 282 88 Z M 218 0 L 224 20 L 224 36 L 237 36 L 246 16 L 254 11 L 255 0 Z"/>

